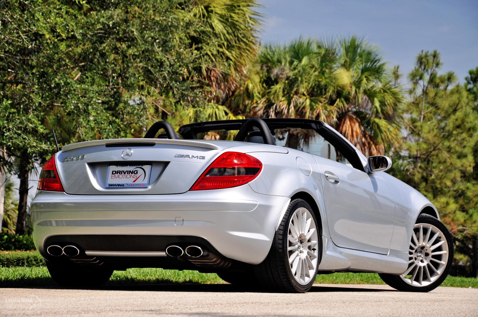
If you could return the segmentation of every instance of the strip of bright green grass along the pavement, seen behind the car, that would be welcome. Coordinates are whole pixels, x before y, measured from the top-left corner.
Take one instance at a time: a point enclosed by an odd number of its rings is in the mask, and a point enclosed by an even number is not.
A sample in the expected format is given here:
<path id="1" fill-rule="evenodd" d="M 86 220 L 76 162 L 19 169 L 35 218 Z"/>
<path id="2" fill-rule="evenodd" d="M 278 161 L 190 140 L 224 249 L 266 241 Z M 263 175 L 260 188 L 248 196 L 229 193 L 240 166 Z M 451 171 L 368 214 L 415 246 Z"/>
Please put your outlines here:
<path id="1" fill-rule="evenodd" d="M 334 273 L 318 275 L 321 284 L 384 284 L 378 274 Z M 226 283 L 216 274 L 196 271 L 163 269 L 128 269 L 115 271 L 107 285 L 152 285 L 152 284 L 222 284 Z M 48 270 L 40 267 L 0 267 L 0 287 L 55 286 Z M 448 276 L 442 286 L 478 288 L 478 279 Z"/>

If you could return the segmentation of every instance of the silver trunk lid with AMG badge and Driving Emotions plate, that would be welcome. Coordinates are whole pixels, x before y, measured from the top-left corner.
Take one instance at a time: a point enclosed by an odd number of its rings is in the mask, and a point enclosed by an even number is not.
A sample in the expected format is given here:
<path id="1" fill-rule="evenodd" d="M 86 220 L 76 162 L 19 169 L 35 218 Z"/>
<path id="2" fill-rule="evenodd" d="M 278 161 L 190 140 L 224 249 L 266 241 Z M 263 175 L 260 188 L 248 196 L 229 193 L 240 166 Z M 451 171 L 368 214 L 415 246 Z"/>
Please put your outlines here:
<path id="1" fill-rule="evenodd" d="M 176 194 L 189 190 L 221 150 L 195 140 L 110 139 L 66 145 L 55 159 L 68 194 Z"/>

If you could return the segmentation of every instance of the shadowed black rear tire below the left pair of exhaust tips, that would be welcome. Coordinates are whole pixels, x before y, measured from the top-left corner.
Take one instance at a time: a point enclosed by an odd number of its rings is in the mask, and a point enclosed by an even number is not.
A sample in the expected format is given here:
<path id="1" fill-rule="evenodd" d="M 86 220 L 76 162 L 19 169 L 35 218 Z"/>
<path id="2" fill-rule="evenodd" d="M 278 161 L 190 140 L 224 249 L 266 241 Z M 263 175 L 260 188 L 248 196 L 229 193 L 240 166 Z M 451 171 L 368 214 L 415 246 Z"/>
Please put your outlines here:
<path id="1" fill-rule="evenodd" d="M 98 287 L 105 284 L 113 269 L 109 266 L 82 266 L 67 261 L 46 261 L 53 280 L 65 287 Z"/>

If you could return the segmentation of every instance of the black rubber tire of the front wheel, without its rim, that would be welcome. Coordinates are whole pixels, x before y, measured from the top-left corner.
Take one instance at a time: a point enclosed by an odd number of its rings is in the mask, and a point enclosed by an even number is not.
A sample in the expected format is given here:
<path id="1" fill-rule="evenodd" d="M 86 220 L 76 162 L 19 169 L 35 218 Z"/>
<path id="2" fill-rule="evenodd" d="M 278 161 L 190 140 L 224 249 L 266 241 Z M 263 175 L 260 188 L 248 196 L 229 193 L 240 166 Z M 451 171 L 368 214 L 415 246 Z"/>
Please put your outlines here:
<path id="1" fill-rule="evenodd" d="M 379 274 L 383 282 L 387 283 L 391 287 L 403 291 L 403 292 L 430 292 L 443 283 L 448 272 L 450 271 L 451 264 L 453 262 L 453 240 L 450 232 L 446 229 L 445 225 L 433 216 L 427 214 L 421 214 L 418 216 L 416 223 L 428 223 L 437 227 L 444 235 L 446 244 L 448 245 L 448 260 L 445 264 L 445 269 L 438 278 L 432 283 L 425 286 L 413 286 L 402 280 L 400 275 Z M 426 266 L 426 265 L 425 265 Z"/>

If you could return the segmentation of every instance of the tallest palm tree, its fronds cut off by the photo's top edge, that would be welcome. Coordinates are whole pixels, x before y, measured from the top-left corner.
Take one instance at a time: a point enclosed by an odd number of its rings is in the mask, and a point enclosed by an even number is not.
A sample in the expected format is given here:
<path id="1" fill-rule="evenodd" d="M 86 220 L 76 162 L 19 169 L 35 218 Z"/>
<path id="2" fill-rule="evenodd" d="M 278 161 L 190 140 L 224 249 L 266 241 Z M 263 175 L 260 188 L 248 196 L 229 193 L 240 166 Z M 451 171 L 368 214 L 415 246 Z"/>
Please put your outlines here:
<path id="1" fill-rule="evenodd" d="M 155 96 L 160 100 L 151 100 L 149 121 L 161 117 L 180 127 L 193 121 L 243 117 L 231 113 L 227 100 L 247 77 L 247 67 L 257 57 L 256 34 L 261 14 L 256 11 L 260 7 L 256 2 L 194 0 L 181 7 L 187 17 L 195 21 L 196 28 L 188 35 L 188 45 L 200 64 L 195 67 L 195 74 L 185 80 L 194 82 L 193 89 L 205 97 L 192 97 L 197 98 L 196 102 L 178 104 L 174 95 Z"/>

